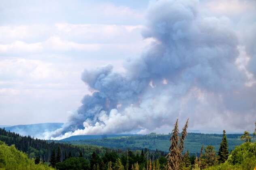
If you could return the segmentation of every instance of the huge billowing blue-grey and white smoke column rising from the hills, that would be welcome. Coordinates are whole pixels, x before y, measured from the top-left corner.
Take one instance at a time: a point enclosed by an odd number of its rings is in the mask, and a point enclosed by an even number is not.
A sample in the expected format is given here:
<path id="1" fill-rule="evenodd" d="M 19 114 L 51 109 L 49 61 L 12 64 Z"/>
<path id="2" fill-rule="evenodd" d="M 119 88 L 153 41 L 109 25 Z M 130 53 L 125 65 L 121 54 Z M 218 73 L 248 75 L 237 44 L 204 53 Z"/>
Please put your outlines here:
<path id="1" fill-rule="evenodd" d="M 177 117 L 190 118 L 195 129 L 249 127 L 256 92 L 245 86 L 247 76 L 237 65 L 237 36 L 228 18 L 204 16 L 198 6 L 196 0 L 149 4 L 142 35 L 153 43 L 124 65 L 125 74 L 111 65 L 84 70 L 81 78 L 94 93 L 51 138 L 169 132 Z"/>

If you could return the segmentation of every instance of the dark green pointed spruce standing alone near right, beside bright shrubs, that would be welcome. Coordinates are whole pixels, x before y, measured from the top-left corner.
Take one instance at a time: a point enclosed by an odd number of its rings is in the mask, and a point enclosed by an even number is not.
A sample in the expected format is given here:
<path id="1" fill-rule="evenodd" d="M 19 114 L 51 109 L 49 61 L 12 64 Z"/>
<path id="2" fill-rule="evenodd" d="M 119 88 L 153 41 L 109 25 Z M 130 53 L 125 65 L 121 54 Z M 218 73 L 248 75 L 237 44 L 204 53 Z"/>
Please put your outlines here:
<path id="1" fill-rule="evenodd" d="M 222 141 L 220 142 L 220 149 L 218 155 L 219 161 L 221 163 L 224 163 L 228 159 L 228 140 L 225 130 L 223 130 Z"/>

